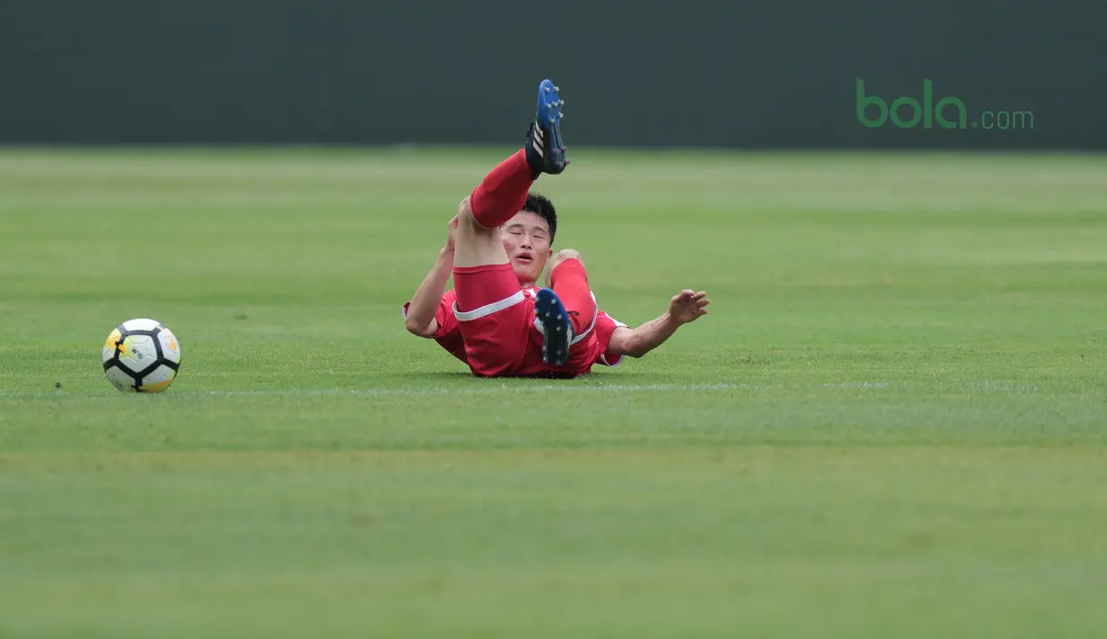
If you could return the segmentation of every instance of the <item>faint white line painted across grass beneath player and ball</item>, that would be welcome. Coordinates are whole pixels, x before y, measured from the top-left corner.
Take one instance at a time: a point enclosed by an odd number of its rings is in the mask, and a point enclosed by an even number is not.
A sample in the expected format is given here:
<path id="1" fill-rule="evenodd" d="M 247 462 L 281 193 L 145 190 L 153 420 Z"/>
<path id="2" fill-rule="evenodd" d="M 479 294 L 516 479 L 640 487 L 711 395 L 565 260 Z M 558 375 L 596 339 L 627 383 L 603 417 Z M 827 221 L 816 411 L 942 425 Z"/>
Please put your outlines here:
<path id="1" fill-rule="evenodd" d="M 652 391 L 680 391 L 680 392 L 705 392 L 705 391 L 732 391 L 732 390 L 797 390 L 797 389 L 890 389 L 892 387 L 908 389 L 915 388 L 915 384 L 892 384 L 889 382 L 845 382 L 826 384 L 744 384 L 744 383 L 717 383 L 717 384 L 596 384 L 579 385 L 572 382 L 547 383 L 547 384 L 496 384 L 477 383 L 468 387 L 438 387 L 428 389 L 283 389 L 283 390 L 252 390 L 252 391 L 168 391 L 166 395 L 173 396 L 311 396 L 311 395 L 350 395 L 350 396 L 426 396 L 426 395 L 484 395 L 496 393 L 532 393 L 532 392 L 563 392 L 563 393 L 640 393 Z M 1028 392 L 1036 388 L 1033 384 L 1014 384 L 1010 382 L 980 381 L 965 384 L 968 389 L 984 392 Z M 923 384 L 925 388 L 925 384 Z M 6 392 L 0 391 L 0 399 L 62 399 L 62 398 L 96 398 L 113 396 L 117 391 L 105 387 L 103 391 L 70 393 L 64 390 L 54 392 Z"/>

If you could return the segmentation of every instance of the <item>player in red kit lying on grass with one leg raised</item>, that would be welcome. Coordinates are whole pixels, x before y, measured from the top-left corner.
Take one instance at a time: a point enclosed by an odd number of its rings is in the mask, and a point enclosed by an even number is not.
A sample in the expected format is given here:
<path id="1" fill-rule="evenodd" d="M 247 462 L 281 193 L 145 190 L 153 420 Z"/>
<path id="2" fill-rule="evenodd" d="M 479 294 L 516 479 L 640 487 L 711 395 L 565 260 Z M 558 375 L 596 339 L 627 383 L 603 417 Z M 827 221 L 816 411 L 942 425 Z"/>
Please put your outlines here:
<path id="1" fill-rule="evenodd" d="M 705 292 L 683 290 L 668 312 L 631 329 L 597 308 L 579 252 L 554 254 L 557 212 L 529 190 L 539 175 L 560 174 L 569 164 L 562 104 L 544 80 L 528 144 L 462 200 L 446 246 L 404 305 L 408 331 L 436 340 L 478 377 L 572 378 L 596 364 L 615 367 L 707 313 Z M 546 288 L 536 288 L 547 266 Z M 454 289 L 444 292 L 451 272 Z"/>

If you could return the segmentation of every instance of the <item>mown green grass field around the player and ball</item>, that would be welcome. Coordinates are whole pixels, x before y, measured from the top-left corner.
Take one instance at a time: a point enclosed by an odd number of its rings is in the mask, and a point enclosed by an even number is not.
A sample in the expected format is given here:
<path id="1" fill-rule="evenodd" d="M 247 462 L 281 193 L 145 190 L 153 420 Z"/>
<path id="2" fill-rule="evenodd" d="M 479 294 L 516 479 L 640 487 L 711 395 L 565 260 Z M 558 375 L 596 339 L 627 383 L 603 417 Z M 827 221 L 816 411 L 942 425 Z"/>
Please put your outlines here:
<path id="1" fill-rule="evenodd" d="M 1107 157 L 576 153 L 601 307 L 711 315 L 476 380 L 400 307 L 508 151 L 0 152 L 0 637 L 1107 627 Z"/>

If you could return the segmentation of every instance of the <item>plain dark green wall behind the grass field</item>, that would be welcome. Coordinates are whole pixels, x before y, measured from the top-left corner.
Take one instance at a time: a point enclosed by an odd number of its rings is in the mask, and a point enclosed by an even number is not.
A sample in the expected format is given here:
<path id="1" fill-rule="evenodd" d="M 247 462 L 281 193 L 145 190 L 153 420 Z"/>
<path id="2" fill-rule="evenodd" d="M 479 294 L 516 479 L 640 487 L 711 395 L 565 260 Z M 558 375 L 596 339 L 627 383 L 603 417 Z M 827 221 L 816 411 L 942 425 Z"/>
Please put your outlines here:
<path id="1" fill-rule="evenodd" d="M 1105 25 L 1093 0 L 0 0 L 0 142 L 515 143 L 550 76 L 570 145 L 1104 148 Z M 856 78 L 1034 128 L 866 128 Z"/>

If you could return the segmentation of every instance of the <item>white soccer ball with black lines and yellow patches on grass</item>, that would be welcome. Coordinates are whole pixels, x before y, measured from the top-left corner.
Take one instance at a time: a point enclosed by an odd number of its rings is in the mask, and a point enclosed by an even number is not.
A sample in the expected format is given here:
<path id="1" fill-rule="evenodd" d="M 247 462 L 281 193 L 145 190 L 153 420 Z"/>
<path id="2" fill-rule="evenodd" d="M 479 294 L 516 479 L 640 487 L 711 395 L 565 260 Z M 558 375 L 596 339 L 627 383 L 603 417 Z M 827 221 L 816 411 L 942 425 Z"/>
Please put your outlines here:
<path id="1" fill-rule="evenodd" d="M 180 368 L 180 344 L 173 331 L 152 319 L 120 324 L 104 342 L 104 374 L 125 393 L 159 393 Z"/>

